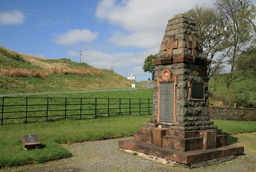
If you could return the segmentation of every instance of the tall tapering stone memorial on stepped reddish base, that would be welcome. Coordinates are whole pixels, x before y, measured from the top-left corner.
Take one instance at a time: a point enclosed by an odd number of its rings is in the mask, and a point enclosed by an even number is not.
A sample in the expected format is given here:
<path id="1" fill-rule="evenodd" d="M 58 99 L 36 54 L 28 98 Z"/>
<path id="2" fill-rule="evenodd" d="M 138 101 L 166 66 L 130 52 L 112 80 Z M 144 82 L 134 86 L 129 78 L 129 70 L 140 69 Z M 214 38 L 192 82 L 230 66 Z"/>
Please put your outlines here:
<path id="1" fill-rule="evenodd" d="M 209 119 L 207 66 L 193 19 L 168 20 L 155 65 L 152 118 L 119 147 L 184 164 L 242 154 Z"/>

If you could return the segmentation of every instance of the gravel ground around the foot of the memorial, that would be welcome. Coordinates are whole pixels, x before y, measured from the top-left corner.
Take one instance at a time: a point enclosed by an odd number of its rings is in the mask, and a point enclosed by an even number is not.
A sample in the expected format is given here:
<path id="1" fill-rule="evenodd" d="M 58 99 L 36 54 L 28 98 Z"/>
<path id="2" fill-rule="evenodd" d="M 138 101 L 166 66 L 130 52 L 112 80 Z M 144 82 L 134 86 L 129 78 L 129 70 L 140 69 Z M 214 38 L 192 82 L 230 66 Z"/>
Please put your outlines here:
<path id="1" fill-rule="evenodd" d="M 164 165 L 125 153 L 118 148 L 118 140 L 124 139 L 132 139 L 132 137 L 62 144 L 61 146 L 72 152 L 74 155 L 72 158 L 0 171 L 256 171 L 254 164 L 256 155 L 246 149 L 246 155 L 235 160 L 208 167 L 188 169 Z"/>

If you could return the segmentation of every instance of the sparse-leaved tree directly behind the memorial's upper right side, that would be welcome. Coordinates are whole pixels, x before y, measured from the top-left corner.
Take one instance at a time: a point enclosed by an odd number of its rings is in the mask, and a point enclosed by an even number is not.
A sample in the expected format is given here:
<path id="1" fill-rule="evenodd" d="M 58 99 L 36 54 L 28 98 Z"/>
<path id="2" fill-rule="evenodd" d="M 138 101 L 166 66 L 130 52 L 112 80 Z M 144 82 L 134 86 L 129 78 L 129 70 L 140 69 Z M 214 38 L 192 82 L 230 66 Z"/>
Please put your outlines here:
<path id="1" fill-rule="evenodd" d="M 213 9 L 207 8 L 205 5 L 196 4 L 195 7 L 186 13 L 195 19 L 198 35 L 204 50 L 205 57 L 211 60 L 208 65 L 208 77 L 220 71 L 225 57 L 214 58 L 218 52 L 227 48 L 227 38 L 229 30 L 225 28 L 226 22 L 220 13 Z"/>

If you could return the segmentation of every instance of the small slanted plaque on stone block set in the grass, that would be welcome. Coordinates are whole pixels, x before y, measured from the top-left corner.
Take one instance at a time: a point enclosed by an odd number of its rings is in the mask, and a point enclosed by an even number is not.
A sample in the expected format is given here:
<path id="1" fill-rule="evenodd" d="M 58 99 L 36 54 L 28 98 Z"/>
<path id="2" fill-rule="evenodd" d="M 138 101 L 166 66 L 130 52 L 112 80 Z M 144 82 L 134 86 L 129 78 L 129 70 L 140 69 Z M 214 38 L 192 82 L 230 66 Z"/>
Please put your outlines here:
<path id="1" fill-rule="evenodd" d="M 41 146 L 41 142 L 37 135 L 22 135 L 21 140 L 24 149 L 38 148 Z"/>

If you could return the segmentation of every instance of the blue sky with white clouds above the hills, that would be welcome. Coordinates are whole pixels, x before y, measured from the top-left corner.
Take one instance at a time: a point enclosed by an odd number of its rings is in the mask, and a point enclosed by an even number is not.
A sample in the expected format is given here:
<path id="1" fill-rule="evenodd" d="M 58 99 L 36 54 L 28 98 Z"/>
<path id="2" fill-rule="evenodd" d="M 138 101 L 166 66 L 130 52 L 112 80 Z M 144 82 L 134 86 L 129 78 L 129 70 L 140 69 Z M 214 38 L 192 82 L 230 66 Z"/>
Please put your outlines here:
<path id="1" fill-rule="evenodd" d="M 159 51 L 169 18 L 212 0 L 0 0 L 0 45 L 48 59 L 70 58 L 136 80 Z"/>

